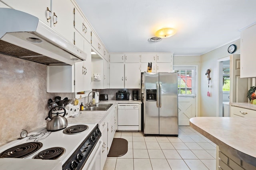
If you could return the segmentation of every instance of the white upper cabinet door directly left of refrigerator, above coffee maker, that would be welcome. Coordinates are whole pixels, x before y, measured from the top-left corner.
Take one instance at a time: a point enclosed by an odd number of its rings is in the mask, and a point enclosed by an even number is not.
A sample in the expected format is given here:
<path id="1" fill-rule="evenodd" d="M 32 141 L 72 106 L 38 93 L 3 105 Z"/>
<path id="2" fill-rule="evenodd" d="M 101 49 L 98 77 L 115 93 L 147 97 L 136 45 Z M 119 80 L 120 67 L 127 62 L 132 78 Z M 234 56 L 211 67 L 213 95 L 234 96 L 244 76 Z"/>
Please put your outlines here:
<path id="1" fill-rule="evenodd" d="M 140 88 L 140 63 L 125 64 L 125 88 Z"/>

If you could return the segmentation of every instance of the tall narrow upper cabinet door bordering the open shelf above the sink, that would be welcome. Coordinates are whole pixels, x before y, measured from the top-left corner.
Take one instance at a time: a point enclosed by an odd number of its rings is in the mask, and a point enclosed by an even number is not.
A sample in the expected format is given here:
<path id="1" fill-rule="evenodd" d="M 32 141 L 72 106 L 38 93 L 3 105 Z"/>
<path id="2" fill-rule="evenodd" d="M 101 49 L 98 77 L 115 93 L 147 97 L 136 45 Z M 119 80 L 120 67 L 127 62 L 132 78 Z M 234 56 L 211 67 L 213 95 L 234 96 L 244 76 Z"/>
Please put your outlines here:
<path id="1" fill-rule="evenodd" d="M 86 61 L 84 61 L 84 90 L 92 91 L 92 56 L 91 56 L 91 44 L 84 41 L 84 52 L 87 53 Z"/>

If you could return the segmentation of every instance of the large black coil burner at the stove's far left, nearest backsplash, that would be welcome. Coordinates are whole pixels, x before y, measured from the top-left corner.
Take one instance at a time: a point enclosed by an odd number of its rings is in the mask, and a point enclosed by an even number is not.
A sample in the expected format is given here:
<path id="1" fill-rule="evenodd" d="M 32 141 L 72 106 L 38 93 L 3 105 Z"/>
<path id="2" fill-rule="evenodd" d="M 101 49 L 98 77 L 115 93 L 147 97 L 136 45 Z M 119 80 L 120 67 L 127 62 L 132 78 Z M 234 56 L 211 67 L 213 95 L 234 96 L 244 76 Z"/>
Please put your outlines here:
<path id="1" fill-rule="evenodd" d="M 11 147 L 0 153 L 0 158 L 26 158 L 42 148 L 40 142 L 29 142 Z"/>

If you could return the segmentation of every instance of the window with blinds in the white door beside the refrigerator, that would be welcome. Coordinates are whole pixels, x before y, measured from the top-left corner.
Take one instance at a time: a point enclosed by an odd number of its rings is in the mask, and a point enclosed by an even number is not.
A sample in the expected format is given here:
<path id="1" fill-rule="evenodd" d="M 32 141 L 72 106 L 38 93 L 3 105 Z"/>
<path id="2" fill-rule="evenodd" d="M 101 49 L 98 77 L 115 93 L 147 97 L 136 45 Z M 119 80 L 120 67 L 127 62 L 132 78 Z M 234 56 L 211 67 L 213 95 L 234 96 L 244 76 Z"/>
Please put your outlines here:
<path id="1" fill-rule="evenodd" d="M 196 96 L 196 67 L 174 67 L 178 72 L 178 95 Z"/>

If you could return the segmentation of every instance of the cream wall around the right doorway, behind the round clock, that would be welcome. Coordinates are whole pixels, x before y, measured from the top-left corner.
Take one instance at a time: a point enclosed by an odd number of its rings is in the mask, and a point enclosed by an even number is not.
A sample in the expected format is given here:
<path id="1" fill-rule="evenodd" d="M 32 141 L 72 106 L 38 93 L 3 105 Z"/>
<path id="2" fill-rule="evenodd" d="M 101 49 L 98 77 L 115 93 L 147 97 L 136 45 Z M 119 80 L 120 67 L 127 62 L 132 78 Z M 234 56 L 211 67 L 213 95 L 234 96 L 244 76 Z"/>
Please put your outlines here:
<path id="1" fill-rule="evenodd" d="M 217 63 L 218 59 L 228 57 L 230 54 L 228 53 L 228 47 L 231 44 L 235 44 L 237 46 L 237 50 L 234 54 L 240 54 L 240 39 L 228 43 L 218 49 L 210 51 L 201 56 L 201 86 L 200 86 L 200 116 L 212 116 L 215 117 L 217 115 L 216 106 L 218 105 L 218 70 Z M 205 75 L 206 70 L 210 69 L 210 97 L 207 96 L 208 91 L 208 80 Z"/>

